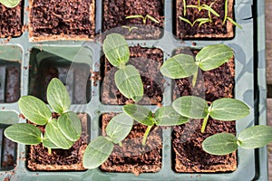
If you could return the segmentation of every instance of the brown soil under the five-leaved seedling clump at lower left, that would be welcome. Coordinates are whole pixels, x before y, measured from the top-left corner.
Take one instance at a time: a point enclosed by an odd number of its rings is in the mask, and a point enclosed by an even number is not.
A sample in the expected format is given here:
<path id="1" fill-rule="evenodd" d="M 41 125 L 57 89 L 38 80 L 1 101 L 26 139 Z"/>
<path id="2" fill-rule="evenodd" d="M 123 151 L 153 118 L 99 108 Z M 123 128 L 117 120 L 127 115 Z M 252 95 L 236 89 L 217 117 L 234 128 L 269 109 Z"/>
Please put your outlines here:
<path id="1" fill-rule="evenodd" d="M 87 148 L 87 118 L 81 114 L 83 133 L 70 149 L 52 149 L 52 155 L 48 155 L 48 149 L 42 144 L 29 146 L 27 167 L 31 170 L 84 170 L 83 152 Z M 44 127 L 39 127 L 44 132 Z"/>

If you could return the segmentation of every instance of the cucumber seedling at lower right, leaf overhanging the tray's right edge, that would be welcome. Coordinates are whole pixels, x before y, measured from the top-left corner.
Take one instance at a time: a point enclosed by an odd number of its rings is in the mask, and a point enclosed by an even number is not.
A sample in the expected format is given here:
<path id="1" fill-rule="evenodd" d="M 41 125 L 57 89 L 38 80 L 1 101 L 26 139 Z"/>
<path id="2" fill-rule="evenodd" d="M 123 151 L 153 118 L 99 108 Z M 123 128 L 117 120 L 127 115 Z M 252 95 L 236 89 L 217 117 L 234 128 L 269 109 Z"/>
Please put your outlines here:
<path id="1" fill-rule="evenodd" d="M 238 147 L 245 149 L 262 148 L 272 142 L 272 127 L 257 125 L 249 127 L 236 138 L 231 133 L 218 133 L 206 138 L 202 143 L 204 151 L 211 155 L 227 155 Z"/>

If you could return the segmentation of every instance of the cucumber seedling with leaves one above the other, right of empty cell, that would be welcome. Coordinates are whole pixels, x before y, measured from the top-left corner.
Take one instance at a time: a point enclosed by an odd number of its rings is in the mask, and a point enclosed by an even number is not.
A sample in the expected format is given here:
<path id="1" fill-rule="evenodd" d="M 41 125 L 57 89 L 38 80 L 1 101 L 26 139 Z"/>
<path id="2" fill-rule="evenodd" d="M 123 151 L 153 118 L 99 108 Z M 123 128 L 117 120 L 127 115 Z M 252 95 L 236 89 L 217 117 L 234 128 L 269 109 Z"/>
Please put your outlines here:
<path id="1" fill-rule="evenodd" d="M 107 35 L 102 48 L 108 61 L 119 69 L 114 74 L 114 81 L 121 94 L 133 101 L 140 101 L 143 96 L 141 76 L 133 65 L 126 65 L 130 60 L 130 49 L 124 37 L 111 33 Z"/>

